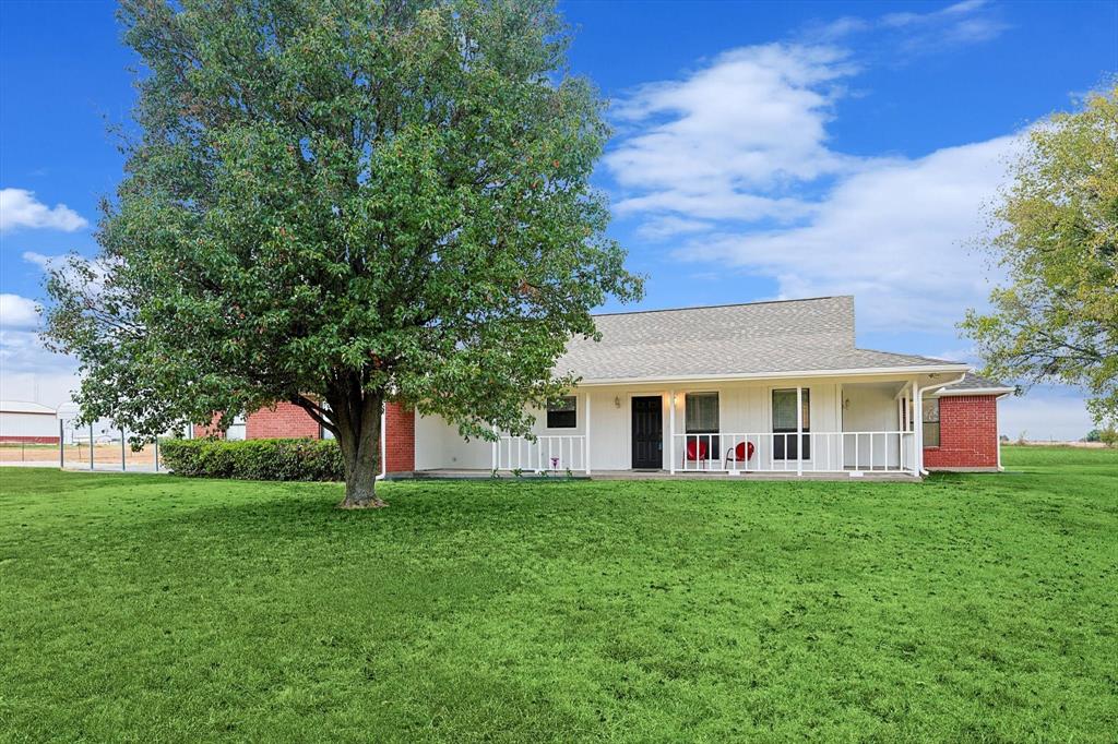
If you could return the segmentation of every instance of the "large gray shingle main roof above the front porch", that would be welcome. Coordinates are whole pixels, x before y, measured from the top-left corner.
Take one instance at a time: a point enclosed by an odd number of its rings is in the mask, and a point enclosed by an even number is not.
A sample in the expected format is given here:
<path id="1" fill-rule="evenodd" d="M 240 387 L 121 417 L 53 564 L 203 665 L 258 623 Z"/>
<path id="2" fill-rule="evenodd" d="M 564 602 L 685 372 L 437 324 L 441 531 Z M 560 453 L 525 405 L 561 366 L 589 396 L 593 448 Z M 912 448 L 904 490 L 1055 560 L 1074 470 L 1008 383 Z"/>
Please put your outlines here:
<path id="1" fill-rule="evenodd" d="M 557 372 L 590 382 L 955 364 L 856 349 L 850 296 L 616 313 L 595 323 L 601 341 L 572 340 Z"/>

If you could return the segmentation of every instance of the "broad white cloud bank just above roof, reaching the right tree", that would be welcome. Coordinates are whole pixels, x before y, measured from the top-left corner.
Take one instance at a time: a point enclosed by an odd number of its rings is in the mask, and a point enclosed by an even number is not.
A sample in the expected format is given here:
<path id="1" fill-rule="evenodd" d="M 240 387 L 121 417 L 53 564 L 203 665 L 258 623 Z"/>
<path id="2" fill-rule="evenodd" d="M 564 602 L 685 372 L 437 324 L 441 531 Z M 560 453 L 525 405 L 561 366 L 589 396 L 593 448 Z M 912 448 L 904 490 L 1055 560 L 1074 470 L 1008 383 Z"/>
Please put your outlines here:
<path id="1" fill-rule="evenodd" d="M 678 256 L 769 277 L 786 297 L 854 294 L 860 330 L 950 332 L 989 290 L 969 241 L 1014 142 L 879 162 L 835 187 L 803 226 L 704 237 Z"/>

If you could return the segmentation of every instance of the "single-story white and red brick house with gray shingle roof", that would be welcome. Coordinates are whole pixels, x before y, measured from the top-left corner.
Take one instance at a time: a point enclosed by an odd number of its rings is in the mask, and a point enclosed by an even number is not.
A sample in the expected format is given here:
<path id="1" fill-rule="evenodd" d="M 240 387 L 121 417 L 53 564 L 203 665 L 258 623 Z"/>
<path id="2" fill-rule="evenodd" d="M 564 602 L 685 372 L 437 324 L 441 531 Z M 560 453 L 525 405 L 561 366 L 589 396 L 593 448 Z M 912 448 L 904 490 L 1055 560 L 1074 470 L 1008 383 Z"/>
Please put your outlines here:
<path id="1" fill-rule="evenodd" d="M 534 438 L 464 440 L 438 417 L 386 411 L 390 475 L 491 471 L 913 476 L 997 470 L 997 400 L 969 365 L 860 349 L 850 296 L 609 313 L 557 364 L 579 382 L 536 411 Z M 303 420 L 305 419 L 305 421 Z M 306 425 L 306 426 L 304 426 Z M 293 406 L 246 436 L 315 436 Z"/>

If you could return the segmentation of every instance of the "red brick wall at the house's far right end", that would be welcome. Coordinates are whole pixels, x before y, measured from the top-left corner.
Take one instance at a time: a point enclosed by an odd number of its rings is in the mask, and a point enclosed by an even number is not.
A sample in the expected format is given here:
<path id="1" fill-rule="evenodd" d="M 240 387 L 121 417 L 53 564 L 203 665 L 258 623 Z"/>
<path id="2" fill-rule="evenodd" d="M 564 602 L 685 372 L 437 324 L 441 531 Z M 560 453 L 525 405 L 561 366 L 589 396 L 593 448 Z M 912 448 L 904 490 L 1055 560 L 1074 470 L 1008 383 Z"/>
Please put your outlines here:
<path id="1" fill-rule="evenodd" d="M 939 399 L 939 447 L 923 448 L 926 468 L 997 467 L 997 397 Z"/>

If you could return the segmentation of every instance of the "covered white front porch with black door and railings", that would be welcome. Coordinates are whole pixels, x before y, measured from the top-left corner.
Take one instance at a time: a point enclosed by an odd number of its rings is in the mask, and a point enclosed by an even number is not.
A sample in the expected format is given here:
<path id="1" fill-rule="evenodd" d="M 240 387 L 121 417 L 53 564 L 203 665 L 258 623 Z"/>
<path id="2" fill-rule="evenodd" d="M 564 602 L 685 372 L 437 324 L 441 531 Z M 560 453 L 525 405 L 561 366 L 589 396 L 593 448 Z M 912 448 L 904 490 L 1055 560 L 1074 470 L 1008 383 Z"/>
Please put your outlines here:
<path id="1" fill-rule="evenodd" d="M 921 427 L 915 425 L 922 419 L 922 393 L 955 379 L 584 385 L 561 406 L 536 413 L 533 438 L 463 442 L 445 425 L 440 430 L 419 421 L 416 465 L 420 475 L 912 478 L 922 470 Z"/>

